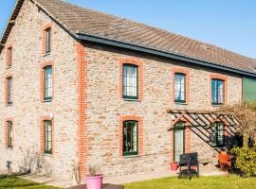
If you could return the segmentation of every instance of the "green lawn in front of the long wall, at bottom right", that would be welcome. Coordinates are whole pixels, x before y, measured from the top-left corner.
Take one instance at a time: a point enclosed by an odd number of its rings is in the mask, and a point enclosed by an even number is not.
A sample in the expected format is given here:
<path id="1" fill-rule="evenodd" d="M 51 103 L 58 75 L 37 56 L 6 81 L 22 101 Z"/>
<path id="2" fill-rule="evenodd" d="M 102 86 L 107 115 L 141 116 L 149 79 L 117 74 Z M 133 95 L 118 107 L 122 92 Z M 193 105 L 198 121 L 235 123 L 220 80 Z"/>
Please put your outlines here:
<path id="1" fill-rule="evenodd" d="M 159 180 L 146 180 L 125 184 L 125 189 L 256 189 L 256 178 L 200 177 L 177 179 L 177 177 Z"/>

